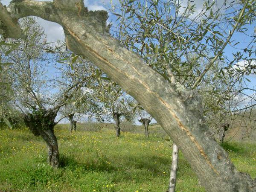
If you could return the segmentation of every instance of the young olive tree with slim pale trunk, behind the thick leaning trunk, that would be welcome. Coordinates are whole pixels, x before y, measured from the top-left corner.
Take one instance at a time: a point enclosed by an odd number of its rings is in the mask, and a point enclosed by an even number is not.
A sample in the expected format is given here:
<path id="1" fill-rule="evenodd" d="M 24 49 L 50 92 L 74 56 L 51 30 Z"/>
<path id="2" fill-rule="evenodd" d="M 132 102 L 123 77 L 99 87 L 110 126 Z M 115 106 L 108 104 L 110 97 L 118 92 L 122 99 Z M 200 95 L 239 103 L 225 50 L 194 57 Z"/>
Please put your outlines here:
<path id="1" fill-rule="evenodd" d="M 114 34 L 127 49 L 141 55 L 145 63 L 167 81 L 177 81 L 202 96 L 202 113 L 211 128 L 209 134 L 219 128 L 223 114 L 230 111 L 226 100 L 233 95 L 234 87 L 230 86 L 233 79 L 227 76 L 227 69 L 224 70 L 227 64 L 222 51 L 237 27 L 232 26 L 233 31 L 226 39 L 219 35 L 218 22 L 224 22 L 221 8 L 233 9 L 235 5 L 218 4 L 222 6 L 218 7 L 214 3 L 217 2 L 204 2 L 198 15 L 195 15 L 195 5 L 189 1 L 186 5 L 172 0 L 125 0 L 119 7 L 112 7 L 119 17 Z M 238 18 L 241 19 L 241 14 Z M 226 22 L 230 25 L 230 20 Z M 210 58 L 212 52 L 216 55 Z M 175 143 L 173 155 L 169 191 L 175 190 L 177 161 L 174 160 L 178 159 Z"/>

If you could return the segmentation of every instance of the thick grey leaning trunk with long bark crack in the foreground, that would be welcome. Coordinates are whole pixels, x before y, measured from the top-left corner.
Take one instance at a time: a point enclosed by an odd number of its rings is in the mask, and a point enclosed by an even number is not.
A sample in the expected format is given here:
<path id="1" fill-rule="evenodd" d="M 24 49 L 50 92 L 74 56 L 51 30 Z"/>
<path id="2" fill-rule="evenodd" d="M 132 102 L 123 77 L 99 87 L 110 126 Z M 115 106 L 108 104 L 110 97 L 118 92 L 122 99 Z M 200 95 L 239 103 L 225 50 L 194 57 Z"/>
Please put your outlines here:
<path id="1" fill-rule="evenodd" d="M 207 134 L 198 94 L 178 83 L 170 84 L 145 65 L 139 55 L 111 37 L 106 26 L 107 12 L 88 12 L 83 0 L 15 0 L 6 10 L 0 19 L 11 31 L 17 30 L 12 27 L 17 19 L 30 15 L 59 23 L 67 47 L 96 64 L 156 119 L 208 191 L 256 191 L 256 180 L 237 171 L 227 152 Z M 8 36 L 7 31 L 5 35 Z"/>

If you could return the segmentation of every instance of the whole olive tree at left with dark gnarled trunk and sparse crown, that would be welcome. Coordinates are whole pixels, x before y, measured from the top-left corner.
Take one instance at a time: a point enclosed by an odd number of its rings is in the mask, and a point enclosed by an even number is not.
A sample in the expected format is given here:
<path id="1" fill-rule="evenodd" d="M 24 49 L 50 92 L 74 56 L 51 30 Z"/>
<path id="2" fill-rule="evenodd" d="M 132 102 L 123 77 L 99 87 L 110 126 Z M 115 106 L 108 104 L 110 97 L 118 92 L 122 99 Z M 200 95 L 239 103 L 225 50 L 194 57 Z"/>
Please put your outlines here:
<path id="1" fill-rule="evenodd" d="M 59 151 L 58 141 L 54 134 L 55 118 L 59 109 L 79 92 L 80 84 L 87 81 L 87 76 L 82 81 L 68 81 L 63 74 L 64 70 L 56 68 L 54 81 L 45 72 L 52 67 L 54 57 L 49 58 L 44 49 L 47 45 L 44 41 L 43 29 L 36 23 L 33 17 L 26 17 L 19 21 L 26 38 L 7 42 L 15 44 L 13 48 L 2 46 L 5 54 L 3 61 L 14 63 L 9 67 L 6 75 L 12 77 L 12 89 L 16 94 L 12 96 L 12 102 L 17 110 L 22 113 L 22 118 L 29 130 L 36 136 L 41 136 L 48 146 L 48 162 L 53 167 L 58 167 Z M 63 69 L 63 68 L 62 68 Z M 61 80 L 60 80 L 61 79 Z M 49 92 L 54 88 L 54 92 Z M 61 117 L 64 118 L 65 116 Z"/>

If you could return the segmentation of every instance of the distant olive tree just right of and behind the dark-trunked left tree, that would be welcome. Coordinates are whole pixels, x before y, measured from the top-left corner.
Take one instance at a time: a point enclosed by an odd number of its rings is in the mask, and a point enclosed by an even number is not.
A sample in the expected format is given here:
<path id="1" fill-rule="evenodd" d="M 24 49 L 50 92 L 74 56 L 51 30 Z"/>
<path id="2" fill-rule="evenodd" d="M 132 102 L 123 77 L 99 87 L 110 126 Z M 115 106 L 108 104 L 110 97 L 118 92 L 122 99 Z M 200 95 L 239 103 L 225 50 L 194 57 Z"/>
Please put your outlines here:
<path id="1" fill-rule="evenodd" d="M 95 87 L 96 71 L 98 70 L 94 64 L 79 57 L 78 55 L 71 54 L 70 52 L 63 52 L 63 50 L 55 50 L 57 52 L 57 61 L 65 66 L 56 65 L 55 68 L 61 71 L 58 81 L 59 84 L 65 86 L 72 86 L 76 84 L 78 89 L 76 94 L 73 94 L 70 100 L 60 109 L 60 113 L 66 116 L 70 121 L 70 131 L 76 131 L 76 122 L 82 116 L 92 117 L 93 115 L 99 116 L 102 113 L 102 108 L 99 103 L 93 98 L 92 87 Z M 67 65 L 68 64 L 68 65 Z M 70 67 L 71 66 L 71 67 Z"/>

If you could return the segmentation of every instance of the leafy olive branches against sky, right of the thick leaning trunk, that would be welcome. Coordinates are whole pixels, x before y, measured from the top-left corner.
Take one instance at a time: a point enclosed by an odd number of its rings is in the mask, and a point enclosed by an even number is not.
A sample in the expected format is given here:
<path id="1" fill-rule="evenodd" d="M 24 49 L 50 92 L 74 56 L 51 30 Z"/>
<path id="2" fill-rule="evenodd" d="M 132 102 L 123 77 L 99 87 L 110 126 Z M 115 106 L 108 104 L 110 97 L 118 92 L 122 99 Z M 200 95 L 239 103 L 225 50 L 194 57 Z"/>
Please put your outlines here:
<path id="1" fill-rule="evenodd" d="M 170 70 L 176 81 L 197 90 L 204 98 L 208 96 L 203 100 L 204 114 L 211 127 L 223 123 L 212 119 L 223 120 L 223 116 L 232 113 L 252 122 L 244 111 L 251 114 L 256 102 L 255 87 L 248 78 L 255 73 L 256 66 L 255 8 L 250 7 L 255 4 L 205 1 L 198 10 L 194 3 L 124 0 L 120 6 L 112 6 L 111 11 L 119 17 L 112 30 L 125 47 L 141 55 L 148 66 L 167 80 Z M 244 5 L 247 11 L 243 11 Z M 248 43 L 241 44 L 238 38 L 233 38 L 234 34 L 243 35 Z M 233 57 L 226 47 L 233 49 Z M 231 106 L 229 103 L 238 96 L 247 104 Z"/>

